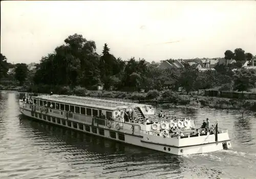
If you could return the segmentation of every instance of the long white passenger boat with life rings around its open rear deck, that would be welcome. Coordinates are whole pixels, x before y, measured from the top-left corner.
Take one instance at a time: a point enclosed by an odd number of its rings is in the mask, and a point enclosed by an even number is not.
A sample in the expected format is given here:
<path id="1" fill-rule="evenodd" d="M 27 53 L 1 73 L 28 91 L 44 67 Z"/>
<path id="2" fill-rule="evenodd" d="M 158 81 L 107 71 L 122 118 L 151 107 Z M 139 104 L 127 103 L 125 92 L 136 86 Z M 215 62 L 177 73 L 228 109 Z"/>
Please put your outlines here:
<path id="1" fill-rule="evenodd" d="M 211 132 L 195 134 L 202 129 L 195 128 L 194 120 L 171 113 L 159 117 L 152 105 L 54 94 L 21 99 L 19 107 L 23 115 L 40 121 L 174 155 L 231 147 L 228 131 L 218 123 Z"/>

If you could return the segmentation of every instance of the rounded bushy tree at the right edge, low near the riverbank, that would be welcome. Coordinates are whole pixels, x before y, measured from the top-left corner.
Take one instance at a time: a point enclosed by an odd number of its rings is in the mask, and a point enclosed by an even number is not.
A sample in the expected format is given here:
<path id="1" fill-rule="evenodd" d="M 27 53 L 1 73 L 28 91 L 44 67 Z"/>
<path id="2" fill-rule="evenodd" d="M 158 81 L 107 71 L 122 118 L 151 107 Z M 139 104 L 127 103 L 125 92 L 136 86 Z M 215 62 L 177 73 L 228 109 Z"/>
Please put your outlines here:
<path id="1" fill-rule="evenodd" d="M 234 90 L 249 91 L 256 86 L 256 71 L 241 69 L 234 74 Z"/>

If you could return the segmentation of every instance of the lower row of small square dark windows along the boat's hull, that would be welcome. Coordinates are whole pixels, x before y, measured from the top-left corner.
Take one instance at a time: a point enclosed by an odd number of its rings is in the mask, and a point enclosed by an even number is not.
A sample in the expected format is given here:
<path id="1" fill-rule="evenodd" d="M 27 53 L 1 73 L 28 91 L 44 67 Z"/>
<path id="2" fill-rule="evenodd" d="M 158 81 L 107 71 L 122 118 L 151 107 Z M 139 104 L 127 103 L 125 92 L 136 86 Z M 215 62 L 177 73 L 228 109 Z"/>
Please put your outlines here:
<path id="1" fill-rule="evenodd" d="M 79 129 L 79 130 L 83 131 L 83 127 L 84 127 L 85 131 L 91 132 L 91 127 L 89 125 L 86 125 L 86 124 L 84 124 L 84 126 L 83 126 L 83 124 L 81 124 L 81 123 L 76 123 L 76 122 L 67 121 L 65 119 L 46 116 L 46 115 L 42 115 L 41 113 L 33 113 L 32 116 L 35 116 L 36 118 L 39 117 L 39 119 L 48 120 L 50 122 L 66 125 L 66 126 L 69 126 L 69 127 L 72 127 L 72 123 L 73 123 L 73 128 L 74 129 Z M 98 129 L 98 130 L 99 130 L 99 135 L 102 135 L 102 136 L 105 135 L 104 129 Z M 97 134 L 98 133 L 97 132 L 97 127 L 92 127 L 92 132 L 94 134 Z M 117 133 L 117 134 L 118 134 L 118 139 L 124 141 L 124 134 L 120 134 L 120 133 Z M 116 132 L 110 131 L 110 137 L 113 138 L 113 139 L 116 139 L 116 137 L 117 137 Z"/>

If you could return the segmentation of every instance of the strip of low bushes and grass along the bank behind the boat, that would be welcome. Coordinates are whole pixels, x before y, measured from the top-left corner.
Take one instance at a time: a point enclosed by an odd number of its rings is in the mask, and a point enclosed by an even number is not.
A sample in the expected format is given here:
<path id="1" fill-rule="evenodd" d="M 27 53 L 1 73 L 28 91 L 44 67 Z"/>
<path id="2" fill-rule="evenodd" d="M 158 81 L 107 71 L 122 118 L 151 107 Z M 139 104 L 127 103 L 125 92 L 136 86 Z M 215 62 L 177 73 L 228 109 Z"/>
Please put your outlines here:
<path id="1" fill-rule="evenodd" d="M 229 99 L 220 97 L 208 97 L 197 95 L 180 95 L 171 90 L 158 91 L 150 90 L 146 93 L 141 92 L 121 92 L 121 91 L 92 91 L 77 86 L 75 88 L 31 86 L 27 92 L 66 94 L 77 96 L 90 96 L 97 98 L 111 98 L 114 100 L 130 101 L 134 103 L 162 104 L 169 103 L 174 106 L 193 106 L 198 108 L 209 107 L 216 109 L 252 110 L 256 111 L 256 100 L 252 99 Z"/>

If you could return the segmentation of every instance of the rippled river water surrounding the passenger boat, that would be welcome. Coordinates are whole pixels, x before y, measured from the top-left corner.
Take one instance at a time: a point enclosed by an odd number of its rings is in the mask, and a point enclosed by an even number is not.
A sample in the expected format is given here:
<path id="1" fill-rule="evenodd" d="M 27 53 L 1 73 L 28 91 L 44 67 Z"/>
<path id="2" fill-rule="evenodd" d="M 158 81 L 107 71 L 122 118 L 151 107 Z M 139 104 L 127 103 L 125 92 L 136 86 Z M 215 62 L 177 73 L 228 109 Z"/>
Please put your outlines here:
<path id="1" fill-rule="evenodd" d="M 232 147 L 173 156 L 82 134 L 20 116 L 18 93 L 1 92 L 0 178 L 255 178 L 255 113 L 168 109 L 201 125 L 206 117 L 229 130 Z M 167 109 L 165 106 L 157 108 Z"/>

